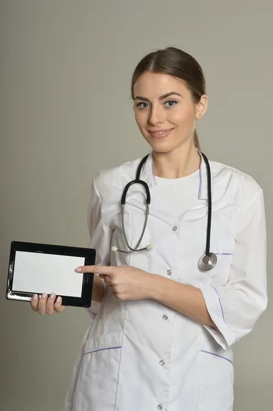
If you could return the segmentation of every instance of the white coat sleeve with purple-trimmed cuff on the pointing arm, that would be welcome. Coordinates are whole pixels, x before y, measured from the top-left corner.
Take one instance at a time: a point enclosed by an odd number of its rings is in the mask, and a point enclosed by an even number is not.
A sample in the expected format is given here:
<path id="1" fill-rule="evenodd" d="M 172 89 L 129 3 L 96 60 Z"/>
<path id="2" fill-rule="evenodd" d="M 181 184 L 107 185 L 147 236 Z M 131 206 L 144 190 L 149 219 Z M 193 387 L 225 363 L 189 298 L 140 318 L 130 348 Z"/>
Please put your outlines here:
<path id="1" fill-rule="evenodd" d="M 260 190 L 237 218 L 229 282 L 200 288 L 217 329 L 204 327 L 223 349 L 252 330 L 267 306 L 266 288 L 265 211 Z"/>

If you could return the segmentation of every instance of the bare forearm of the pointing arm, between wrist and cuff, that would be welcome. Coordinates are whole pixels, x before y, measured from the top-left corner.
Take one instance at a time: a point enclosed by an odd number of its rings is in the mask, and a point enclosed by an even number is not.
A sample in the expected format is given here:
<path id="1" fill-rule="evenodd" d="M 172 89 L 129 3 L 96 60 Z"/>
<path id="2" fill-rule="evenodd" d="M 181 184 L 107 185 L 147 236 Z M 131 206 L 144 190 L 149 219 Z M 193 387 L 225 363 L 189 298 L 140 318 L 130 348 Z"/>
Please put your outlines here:
<path id="1" fill-rule="evenodd" d="M 160 301 L 198 323 L 216 327 L 207 311 L 203 294 L 199 288 L 181 284 L 161 277 L 161 275 L 153 276 L 152 299 Z"/>

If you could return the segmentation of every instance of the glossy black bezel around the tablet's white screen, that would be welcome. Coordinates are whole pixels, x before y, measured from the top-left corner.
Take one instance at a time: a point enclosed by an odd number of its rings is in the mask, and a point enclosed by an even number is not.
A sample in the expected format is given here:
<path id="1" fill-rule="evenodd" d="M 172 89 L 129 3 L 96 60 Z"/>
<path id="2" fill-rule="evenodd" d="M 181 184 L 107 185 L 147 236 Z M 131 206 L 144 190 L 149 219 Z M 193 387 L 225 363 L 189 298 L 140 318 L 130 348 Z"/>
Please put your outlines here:
<path id="1" fill-rule="evenodd" d="M 27 251 L 31 253 L 47 253 L 57 254 L 60 256 L 75 256 L 83 257 L 84 265 L 94 265 L 96 258 L 96 250 L 81 248 L 81 247 L 68 247 L 64 245 L 49 245 L 39 244 L 36 242 L 23 242 L 12 241 L 10 246 L 10 263 L 8 269 L 8 284 L 6 290 L 6 299 L 17 301 L 31 301 L 34 294 L 38 292 L 22 292 L 19 290 L 12 290 L 13 276 L 14 276 L 14 263 L 16 259 L 16 251 Z M 62 297 L 63 306 L 85 307 L 91 306 L 92 301 L 92 289 L 93 289 L 94 273 L 84 273 L 83 283 L 81 288 L 81 297 L 68 297 L 66 295 L 60 295 Z"/>

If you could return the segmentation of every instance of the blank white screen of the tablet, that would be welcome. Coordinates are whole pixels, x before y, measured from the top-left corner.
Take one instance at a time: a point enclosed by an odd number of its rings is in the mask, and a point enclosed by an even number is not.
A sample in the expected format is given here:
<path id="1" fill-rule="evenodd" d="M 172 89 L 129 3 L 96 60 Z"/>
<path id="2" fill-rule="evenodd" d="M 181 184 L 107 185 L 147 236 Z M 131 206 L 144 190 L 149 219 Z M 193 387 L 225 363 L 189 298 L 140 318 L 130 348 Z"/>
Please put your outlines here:
<path id="1" fill-rule="evenodd" d="M 12 290 L 81 297 L 84 257 L 16 251 Z"/>

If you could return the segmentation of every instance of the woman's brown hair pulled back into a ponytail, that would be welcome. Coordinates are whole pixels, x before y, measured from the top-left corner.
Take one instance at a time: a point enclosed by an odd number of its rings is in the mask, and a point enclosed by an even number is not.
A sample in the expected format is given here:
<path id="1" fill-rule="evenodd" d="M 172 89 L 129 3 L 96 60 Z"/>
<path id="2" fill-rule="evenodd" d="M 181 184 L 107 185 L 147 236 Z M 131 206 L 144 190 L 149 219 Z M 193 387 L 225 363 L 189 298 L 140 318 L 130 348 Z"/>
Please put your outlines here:
<path id="1" fill-rule="evenodd" d="M 164 73 L 177 77 L 183 82 L 192 93 L 195 104 L 200 101 L 202 95 L 206 94 L 206 83 L 203 69 L 192 57 L 175 47 L 157 50 L 147 54 L 135 67 L 131 79 L 131 97 L 133 97 L 133 86 L 138 78 L 149 71 L 151 73 Z M 196 129 L 194 130 L 194 145 L 200 149 L 199 138 Z"/>

